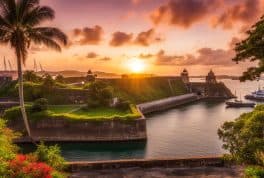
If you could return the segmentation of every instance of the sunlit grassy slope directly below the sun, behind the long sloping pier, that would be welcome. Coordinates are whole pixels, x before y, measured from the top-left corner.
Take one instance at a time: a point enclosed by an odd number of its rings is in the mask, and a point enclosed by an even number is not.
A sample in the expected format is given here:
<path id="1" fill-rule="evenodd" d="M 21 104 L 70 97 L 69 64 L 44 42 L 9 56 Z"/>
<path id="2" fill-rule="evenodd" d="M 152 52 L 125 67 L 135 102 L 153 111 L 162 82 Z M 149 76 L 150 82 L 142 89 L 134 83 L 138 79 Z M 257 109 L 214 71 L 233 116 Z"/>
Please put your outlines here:
<path id="1" fill-rule="evenodd" d="M 107 82 L 116 95 L 137 104 L 187 93 L 184 83 L 177 77 L 109 79 Z"/>

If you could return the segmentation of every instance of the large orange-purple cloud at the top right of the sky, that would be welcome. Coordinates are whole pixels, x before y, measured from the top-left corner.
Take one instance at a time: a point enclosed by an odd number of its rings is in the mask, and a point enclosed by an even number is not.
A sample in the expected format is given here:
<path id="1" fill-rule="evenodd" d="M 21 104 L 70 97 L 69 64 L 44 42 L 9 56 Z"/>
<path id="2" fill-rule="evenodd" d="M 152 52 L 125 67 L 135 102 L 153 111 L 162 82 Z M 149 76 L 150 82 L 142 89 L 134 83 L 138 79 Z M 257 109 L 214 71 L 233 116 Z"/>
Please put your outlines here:
<path id="1" fill-rule="evenodd" d="M 260 16 L 261 0 L 170 0 L 154 10 L 151 21 L 189 28 L 202 20 L 211 20 L 213 27 L 231 29 L 241 22 L 248 27 Z"/>

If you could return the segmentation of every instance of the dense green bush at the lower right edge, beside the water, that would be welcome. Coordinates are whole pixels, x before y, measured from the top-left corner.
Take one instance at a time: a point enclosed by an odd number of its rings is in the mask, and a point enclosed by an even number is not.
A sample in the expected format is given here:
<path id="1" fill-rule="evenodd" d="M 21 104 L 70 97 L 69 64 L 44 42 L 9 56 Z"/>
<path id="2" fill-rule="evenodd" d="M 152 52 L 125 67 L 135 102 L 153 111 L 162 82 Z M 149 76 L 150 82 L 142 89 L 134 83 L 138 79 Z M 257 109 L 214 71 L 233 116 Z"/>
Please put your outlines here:
<path id="1" fill-rule="evenodd" d="M 223 148 L 231 154 L 225 160 L 256 165 L 246 168 L 245 175 L 264 177 L 264 105 L 242 114 L 234 122 L 225 122 L 218 135 L 224 142 Z"/>

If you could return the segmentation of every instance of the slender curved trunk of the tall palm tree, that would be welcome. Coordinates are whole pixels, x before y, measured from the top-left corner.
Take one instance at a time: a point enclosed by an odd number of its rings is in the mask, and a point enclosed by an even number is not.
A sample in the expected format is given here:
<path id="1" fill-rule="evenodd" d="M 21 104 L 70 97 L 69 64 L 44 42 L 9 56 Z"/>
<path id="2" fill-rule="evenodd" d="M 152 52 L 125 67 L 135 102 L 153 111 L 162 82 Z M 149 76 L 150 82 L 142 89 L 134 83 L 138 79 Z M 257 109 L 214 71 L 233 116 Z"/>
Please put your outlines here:
<path id="1" fill-rule="evenodd" d="M 27 119 L 27 113 L 26 113 L 25 103 L 24 103 L 23 72 L 22 72 L 22 64 L 21 64 L 21 58 L 20 58 L 19 52 L 17 52 L 17 73 L 18 73 L 20 109 L 21 109 L 22 118 L 24 120 L 26 130 L 27 130 L 27 134 L 31 138 L 30 128 L 29 128 L 28 119 Z"/>

